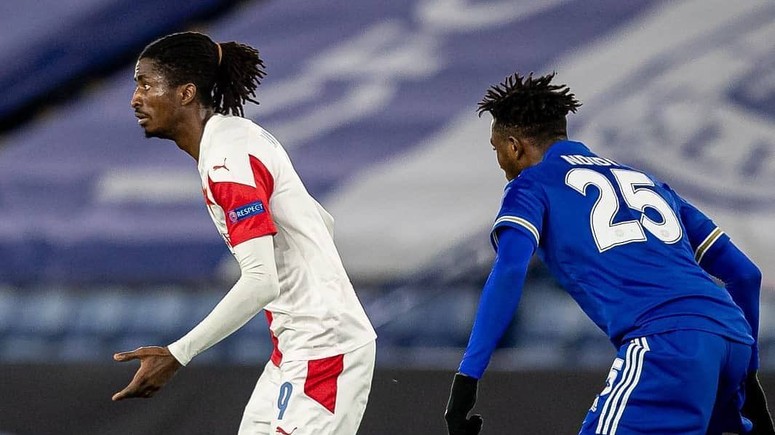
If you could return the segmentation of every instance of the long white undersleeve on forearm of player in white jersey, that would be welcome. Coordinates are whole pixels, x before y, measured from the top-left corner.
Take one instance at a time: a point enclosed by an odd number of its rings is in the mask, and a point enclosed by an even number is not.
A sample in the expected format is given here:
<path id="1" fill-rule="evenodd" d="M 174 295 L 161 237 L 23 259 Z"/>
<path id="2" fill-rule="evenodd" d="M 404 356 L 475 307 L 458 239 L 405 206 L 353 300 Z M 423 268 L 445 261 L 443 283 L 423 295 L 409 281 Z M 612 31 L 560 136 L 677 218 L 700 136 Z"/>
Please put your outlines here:
<path id="1" fill-rule="evenodd" d="M 182 365 L 241 328 L 280 292 L 272 236 L 240 243 L 234 256 L 242 271 L 234 287 L 194 329 L 169 345 Z"/>

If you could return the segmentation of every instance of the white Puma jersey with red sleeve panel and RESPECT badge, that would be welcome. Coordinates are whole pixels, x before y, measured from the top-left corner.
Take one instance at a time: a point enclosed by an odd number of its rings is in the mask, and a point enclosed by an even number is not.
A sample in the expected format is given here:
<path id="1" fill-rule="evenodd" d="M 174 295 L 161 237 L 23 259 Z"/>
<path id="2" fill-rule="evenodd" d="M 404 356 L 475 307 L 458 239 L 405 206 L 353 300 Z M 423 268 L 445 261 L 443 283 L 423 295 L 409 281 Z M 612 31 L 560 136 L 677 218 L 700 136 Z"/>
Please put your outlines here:
<path id="1" fill-rule="evenodd" d="M 250 120 L 213 115 L 198 167 L 210 217 L 230 250 L 274 235 L 280 293 L 265 312 L 275 365 L 347 353 L 376 338 L 334 246 L 333 219 L 272 135 Z"/>

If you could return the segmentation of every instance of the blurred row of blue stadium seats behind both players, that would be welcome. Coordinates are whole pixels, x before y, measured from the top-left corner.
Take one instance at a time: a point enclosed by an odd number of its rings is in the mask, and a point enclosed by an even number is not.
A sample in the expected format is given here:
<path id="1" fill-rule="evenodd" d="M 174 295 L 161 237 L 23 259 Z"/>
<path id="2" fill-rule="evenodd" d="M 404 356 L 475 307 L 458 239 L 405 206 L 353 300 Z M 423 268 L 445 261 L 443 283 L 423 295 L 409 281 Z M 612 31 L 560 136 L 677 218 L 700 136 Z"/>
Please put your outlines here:
<path id="1" fill-rule="evenodd" d="M 361 289 L 359 297 L 379 335 L 377 365 L 456 369 L 479 291 L 475 283 Z M 222 294 L 172 285 L 88 291 L 0 288 L 0 364 L 111 364 L 114 352 L 177 340 Z M 771 289 L 764 294 L 761 313 L 762 370 L 775 371 Z M 260 367 L 271 349 L 266 320 L 259 314 L 195 363 Z M 614 347 L 575 302 L 550 277 L 534 271 L 491 367 L 599 369 L 610 366 L 614 354 Z"/>

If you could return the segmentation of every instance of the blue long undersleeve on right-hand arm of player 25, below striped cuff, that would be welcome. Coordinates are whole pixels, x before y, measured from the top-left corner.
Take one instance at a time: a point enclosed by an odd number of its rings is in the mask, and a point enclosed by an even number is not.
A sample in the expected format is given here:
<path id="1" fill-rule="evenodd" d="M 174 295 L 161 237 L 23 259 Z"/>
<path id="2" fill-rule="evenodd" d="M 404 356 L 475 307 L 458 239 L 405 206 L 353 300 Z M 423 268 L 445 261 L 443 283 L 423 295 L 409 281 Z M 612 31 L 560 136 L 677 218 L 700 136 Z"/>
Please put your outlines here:
<path id="1" fill-rule="evenodd" d="M 751 325 L 754 353 L 751 356 L 750 370 L 759 368 L 759 295 L 761 294 L 762 273 L 758 267 L 732 243 L 726 240 L 716 243 L 712 255 L 706 256 L 700 264 L 709 274 L 724 282 L 732 300 L 743 311 L 745 320 Z"/>

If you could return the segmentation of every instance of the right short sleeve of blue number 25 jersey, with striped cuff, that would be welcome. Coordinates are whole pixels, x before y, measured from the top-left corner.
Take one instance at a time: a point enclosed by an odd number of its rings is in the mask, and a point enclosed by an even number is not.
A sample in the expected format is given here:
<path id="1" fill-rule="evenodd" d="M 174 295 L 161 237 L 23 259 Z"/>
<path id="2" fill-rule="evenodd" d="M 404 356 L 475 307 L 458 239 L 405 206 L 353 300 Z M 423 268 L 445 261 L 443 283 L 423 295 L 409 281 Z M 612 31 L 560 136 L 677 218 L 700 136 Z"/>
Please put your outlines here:
<path id="1" fill-rule="evenodd" d="M 729 242 L 729 236 L 703 212 L 669 187 L 667 189 L 675 197 L 681 222 L 694 250 L 694 259 L 698 264 L 702 264 L 703 260 L 713 257 L 719 249 Z"/>

